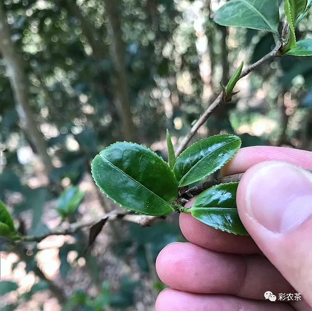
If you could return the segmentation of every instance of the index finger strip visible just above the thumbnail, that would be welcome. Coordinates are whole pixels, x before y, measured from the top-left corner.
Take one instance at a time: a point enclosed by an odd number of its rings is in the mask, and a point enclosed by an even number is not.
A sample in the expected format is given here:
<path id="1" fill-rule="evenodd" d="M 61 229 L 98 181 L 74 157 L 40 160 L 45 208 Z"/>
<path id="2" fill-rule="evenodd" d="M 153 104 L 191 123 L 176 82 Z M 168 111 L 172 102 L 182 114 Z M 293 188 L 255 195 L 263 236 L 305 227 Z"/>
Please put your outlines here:
<path id="1" fill-rule="evenodd" d="M 222 175 L 244 173 L 248 168 L 264 161 L 282 161 L 311 169 L 312 152 L 285 147 L 255 146 L 241 148 L 222 168 Z"/>

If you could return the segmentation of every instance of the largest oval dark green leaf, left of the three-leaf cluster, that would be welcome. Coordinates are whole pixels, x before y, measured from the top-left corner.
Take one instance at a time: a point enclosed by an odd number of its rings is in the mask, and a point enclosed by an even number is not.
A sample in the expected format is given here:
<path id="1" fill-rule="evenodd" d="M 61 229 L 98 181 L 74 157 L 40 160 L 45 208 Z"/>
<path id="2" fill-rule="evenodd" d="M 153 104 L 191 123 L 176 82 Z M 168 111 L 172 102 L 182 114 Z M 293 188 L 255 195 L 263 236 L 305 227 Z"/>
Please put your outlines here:
<path id="1" fill-rule="evenodd" d="M 155 216 L 174 210 L 175 175 L 149 148 L 127 142 L 108 146 L 94 158 L 92 176 L 108 198 L 129 210 Z"/>

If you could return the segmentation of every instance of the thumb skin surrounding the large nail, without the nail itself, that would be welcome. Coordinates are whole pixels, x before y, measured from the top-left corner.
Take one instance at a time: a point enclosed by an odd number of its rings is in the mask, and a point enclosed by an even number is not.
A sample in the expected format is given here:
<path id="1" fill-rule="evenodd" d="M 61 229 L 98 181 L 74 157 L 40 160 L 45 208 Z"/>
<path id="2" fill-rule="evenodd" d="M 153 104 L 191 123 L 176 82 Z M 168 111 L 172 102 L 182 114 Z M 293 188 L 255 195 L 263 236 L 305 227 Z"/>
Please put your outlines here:
<path id="1" fill-rule="evenodd" d="M 268 164 L 261 163 L 250 168 L 239 183 L 237 207 L 240 219 L 264 255 L 312 306 L 312 216 L 296 229 L 275 233 L 262 226 L 248 212 L 247 187 L 263 165 Z M 308 168 L 312 168 L 311 165 L 312 162 Z"/>

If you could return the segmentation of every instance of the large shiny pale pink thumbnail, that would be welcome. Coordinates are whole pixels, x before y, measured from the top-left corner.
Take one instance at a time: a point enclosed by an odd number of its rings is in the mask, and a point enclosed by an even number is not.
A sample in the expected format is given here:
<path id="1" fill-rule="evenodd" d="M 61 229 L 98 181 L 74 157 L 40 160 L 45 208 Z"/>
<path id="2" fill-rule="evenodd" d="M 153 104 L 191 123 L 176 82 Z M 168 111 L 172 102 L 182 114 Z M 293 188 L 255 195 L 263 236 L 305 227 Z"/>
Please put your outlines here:
<path id="1" fill-rule="evenodd" d="M 263 164 L 246 191 L 247 212 L 262 226 L 285 233 L 312 216 L 312 174 L 282 162 Z"/>

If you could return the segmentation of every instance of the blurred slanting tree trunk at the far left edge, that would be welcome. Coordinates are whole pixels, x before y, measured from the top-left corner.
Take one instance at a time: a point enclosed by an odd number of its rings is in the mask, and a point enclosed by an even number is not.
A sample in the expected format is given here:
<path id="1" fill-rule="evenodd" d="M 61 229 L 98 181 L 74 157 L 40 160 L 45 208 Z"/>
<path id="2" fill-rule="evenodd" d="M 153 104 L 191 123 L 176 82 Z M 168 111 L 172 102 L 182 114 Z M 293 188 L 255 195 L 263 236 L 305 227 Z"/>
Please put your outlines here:
<path id="1" fill-rule="evenodd" d="M 23 68 L 22 56 L 11 40 L 9 25 L 7 24 L 7 18 L 2 7 L 0 11 L 1 54 L 13 89 L 16 110 L 20 118 L 20 126 L 36 147 L 47 174 L 50 174 L 54 166 L 47 153 L 46 141 L 38 129 L 38 124 L 34 120 L 34 113 L 29 104 L 28 79 Z"/>

